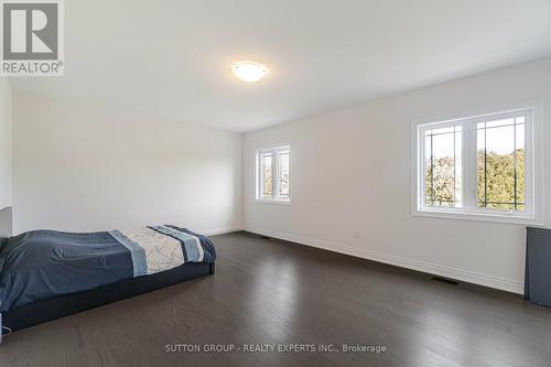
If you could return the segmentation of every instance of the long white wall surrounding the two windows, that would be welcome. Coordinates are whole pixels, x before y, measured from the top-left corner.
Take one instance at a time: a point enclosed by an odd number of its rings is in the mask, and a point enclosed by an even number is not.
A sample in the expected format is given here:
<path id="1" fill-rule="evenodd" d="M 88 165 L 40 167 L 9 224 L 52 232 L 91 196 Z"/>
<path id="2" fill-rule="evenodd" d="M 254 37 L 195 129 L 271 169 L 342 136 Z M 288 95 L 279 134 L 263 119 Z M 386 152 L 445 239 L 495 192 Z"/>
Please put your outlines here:
<path id="1" fill-rule="evenodd" d="M 253 233 L 522 291 L 522 226 L 413 217 L 411 123 L 543 99 L 551 143 L 551 58 L 382 98 L 245 137 L 244 211 Z M 291 142 L 291 205 L 255 202 L 255 150 Z M 544 159 L 551 219 L 551 149 Z"/>

